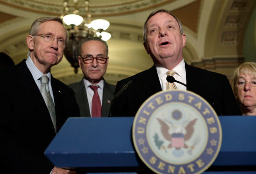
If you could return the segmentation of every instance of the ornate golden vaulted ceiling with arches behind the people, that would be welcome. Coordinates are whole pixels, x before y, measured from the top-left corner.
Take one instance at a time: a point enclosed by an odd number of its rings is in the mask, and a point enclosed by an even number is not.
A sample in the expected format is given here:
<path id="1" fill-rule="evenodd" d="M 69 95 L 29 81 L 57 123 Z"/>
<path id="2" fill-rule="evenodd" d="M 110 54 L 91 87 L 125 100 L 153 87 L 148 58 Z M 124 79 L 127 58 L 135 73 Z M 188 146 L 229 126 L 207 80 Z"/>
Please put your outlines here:
<path id="1" fill-rule="evenodd" d="M 84 0 L 78 3 L 85 15 Z M 62 4 L 63 0 L 0 0 L 0 52 L 10 55 L 15 64 L 26 58 L 30 25 L 41 16 L 60 16 Z M 147 16 L 160 8 L 181 20 L 187 40 L 183 55 L 189 64 L 210 69 L 226 62 L 237 64 L 237 58 L 244 57 L 244 37 L 255 4 L 254 0 L 91 0 L 92 19 L 110 22 L 110 59 L 104 78 L 115 83 L 152 66 L 143 48 L 142 27 Z M 69 5 L 72 9 L 72 0 Z M 65 58 L 52 74 L 66 84 L 83 76 L 81 70 L 75 75 Z"/>

